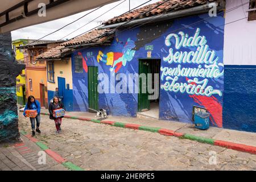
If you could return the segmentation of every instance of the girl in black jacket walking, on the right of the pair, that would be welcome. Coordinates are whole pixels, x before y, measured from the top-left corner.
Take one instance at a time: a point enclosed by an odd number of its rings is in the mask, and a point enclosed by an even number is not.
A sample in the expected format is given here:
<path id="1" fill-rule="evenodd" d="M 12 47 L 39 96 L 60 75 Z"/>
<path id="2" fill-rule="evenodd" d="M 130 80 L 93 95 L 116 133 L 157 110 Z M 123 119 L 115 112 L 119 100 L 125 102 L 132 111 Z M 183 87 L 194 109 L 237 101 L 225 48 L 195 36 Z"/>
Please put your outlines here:
<path id="1" fill-rule="evenodd" d="M 53 97 L 53 102 L 51 104 L 49 104 L 49 109 L 48 110 L 49 110 L 49 114 L 50 114 L 49 118 L 53 119 L 55 121 L 55 126 L 56 126 L 56 129 L 57 129 L 56 133 L 57 134 L 60 133 L 60 131 L 61 131 L 60 125 L 61 125 L 61 121 L 62 121 L 63 116 L 59 117 L 59 118 L 56 118 L 55 114 L 53 114 L 53 110 L 61 109 L 61 108 L 65 109 L 63 104 L 60 102 L 59 98 Z"/>

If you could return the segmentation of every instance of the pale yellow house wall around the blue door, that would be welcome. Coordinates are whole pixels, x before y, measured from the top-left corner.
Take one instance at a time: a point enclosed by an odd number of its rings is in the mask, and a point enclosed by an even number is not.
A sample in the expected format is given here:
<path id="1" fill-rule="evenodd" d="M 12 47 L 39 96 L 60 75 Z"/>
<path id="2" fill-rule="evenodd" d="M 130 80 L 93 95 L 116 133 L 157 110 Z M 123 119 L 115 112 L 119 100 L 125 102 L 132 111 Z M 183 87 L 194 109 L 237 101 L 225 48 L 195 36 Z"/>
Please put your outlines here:
<path id="1" fill-rule="evenodd" d="M 69 84 L 69 89 L 73 89 L 71 58 L 68 61 L 60 60 L 54 61 L 53 63 L 55 83 L 47 82 L 48 90 L 55 91 L 55 88 L 58 87 L 57 77 L 65 78 L 66 85 Z"/>

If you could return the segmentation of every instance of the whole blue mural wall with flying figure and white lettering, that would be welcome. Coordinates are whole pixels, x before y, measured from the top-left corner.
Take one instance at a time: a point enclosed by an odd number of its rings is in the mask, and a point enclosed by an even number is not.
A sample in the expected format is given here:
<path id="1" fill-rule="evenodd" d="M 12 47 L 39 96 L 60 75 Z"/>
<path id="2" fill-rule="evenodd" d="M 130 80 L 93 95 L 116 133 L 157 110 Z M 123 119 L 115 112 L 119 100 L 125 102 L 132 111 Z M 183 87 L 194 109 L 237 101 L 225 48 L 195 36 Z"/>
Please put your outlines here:
<path id="1" fill-rule="evenodd" d="M 98 67 L 99 75 L 105 74 L 98 80 L 100 88 L 106 79 L 110 80 L 109 88 L 122 85 L 122 90 L 128 90 L 137 82 L 123 80 L 119 73 L 129 78 L 130 74 L 138 74 L 140 59 L 160 59 L 159 119 L 192 123 L 193 106 L 200 106 L 210 113 L 213 126 L 222 127 L 224 27 L 221 25 L 225 22 L 222 16 L 207 17 L 208 14 L 195 15 L 120 30 L 110 46 L 74 52 L 74 110 L 88 111 L 89 66 Z M 83 73 L 74 73 L 76 55 L 82 56 Z M 111 80 L 112 75 L 117 79 Z M 138 93 L 100 93 L 98 106 L 108 114 L 136 117 Z"/>

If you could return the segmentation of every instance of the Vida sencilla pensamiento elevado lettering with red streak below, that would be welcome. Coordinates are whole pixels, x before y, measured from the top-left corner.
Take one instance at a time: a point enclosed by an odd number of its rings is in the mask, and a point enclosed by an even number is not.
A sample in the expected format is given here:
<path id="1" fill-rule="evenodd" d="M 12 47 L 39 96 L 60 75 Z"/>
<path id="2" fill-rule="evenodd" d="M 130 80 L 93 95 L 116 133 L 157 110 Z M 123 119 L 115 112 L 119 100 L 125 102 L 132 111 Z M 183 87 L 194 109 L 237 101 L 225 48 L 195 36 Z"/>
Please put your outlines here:
<path id="1" fill-rule="evenodd" d="M 207 38 L 200 34 L 200 28 L 193 35 L 180 31 L 169 34 L 165 39 L 169 48 L 161 67 L 160 89 L 167 92 L 188 94 L 194 102 L 203 105 L 211 114 L 214 125 L 222 127 L 222 105 L 215 96 L 222 96 L 222 90 L 209 85 L 209 80 L 224 76 L 224 64 L 216 51 L 210 49 Z M 189 51 L 184 49 L 189 48 Z"/>

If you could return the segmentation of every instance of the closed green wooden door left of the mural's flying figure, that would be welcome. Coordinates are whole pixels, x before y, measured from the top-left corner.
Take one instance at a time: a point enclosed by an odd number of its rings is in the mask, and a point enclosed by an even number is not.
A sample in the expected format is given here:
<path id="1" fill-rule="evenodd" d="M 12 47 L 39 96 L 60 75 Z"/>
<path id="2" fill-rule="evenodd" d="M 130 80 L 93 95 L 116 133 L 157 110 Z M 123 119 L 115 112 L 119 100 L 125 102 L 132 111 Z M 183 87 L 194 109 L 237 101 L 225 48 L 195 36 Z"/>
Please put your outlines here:
<path id="1" fill-rule="evenodd" d="M 88 67 L 89 109 L 98 110 L 98 67 Z"/>

